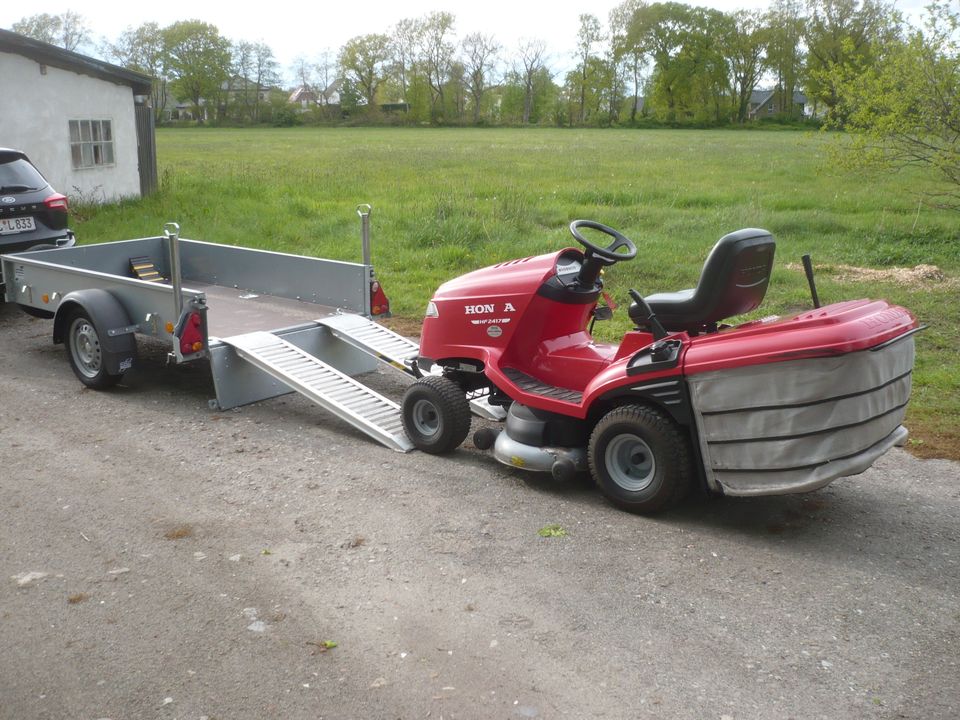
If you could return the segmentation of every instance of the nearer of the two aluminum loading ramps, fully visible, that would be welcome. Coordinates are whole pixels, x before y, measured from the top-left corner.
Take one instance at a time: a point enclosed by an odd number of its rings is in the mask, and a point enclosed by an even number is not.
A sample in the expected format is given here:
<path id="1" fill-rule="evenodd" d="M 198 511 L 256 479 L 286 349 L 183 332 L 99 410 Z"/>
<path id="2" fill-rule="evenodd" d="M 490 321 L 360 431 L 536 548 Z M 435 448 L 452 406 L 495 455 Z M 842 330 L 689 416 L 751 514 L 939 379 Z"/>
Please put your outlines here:
<path id="1" fill-rule="evenodd" d="M 349 375 L 273 333 L 252 332 L 222 341 L 247 362 L 374 440 L 398 452 L 413 449 L 403 431 L 400 406 Z"/>

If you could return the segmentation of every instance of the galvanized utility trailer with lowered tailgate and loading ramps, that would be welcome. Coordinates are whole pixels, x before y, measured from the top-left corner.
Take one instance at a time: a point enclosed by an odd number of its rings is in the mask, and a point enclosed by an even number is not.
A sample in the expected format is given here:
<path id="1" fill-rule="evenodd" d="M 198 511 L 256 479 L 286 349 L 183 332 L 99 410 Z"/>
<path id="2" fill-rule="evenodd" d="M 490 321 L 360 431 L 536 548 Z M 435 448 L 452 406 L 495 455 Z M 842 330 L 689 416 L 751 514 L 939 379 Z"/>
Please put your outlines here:
<path id="1" fill-rule="evenodd" d="M 370 263 L 157 237 L 0 256 L 6 300 L 53 319 L 53 340 L 93 388 L 137 363 L 136 335 L 169 343 L 168 361 L 208 359 L 227 410 L 298 392 L 378 442 L 413 448 L 396 402 L 355 376 L 378 362 L 415 375 L 418 346 L 374 322 L 389 302 Z"/>

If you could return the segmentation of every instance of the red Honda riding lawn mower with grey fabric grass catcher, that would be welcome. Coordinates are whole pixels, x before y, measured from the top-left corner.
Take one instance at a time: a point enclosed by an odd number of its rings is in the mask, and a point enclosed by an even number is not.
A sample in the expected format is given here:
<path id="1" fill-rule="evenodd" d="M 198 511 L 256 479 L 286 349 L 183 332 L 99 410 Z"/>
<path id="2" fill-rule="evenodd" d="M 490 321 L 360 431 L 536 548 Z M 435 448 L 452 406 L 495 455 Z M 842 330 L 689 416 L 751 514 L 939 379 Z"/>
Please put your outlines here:
<path id="1" fill-rule="evenodd" d="M 506 423 L 478 431 L 478 448 L 557 479 L 589 470 L 614 504 L 652 513 L 695 483 L 725 495 L 815 490 L 906 442 L 920 329 L 909 311 L 882 300 L 819 307 L 805 258 L 814 310 L 722 325 L 757 308 L 770 279 L 773 237 L 745 229 L 714 246 L 696 288 L 630 290 L 635 329 L 601 343 L 588 329 L 610 313 L 598 307 L 601 271 L 637 249 L 593 221 L 570 232 L 583 250 L 493 265 L 434 294 L 421 377 L 402 407 L 416 447 L 459 446 L 468 395 L 487 394 Z"/>

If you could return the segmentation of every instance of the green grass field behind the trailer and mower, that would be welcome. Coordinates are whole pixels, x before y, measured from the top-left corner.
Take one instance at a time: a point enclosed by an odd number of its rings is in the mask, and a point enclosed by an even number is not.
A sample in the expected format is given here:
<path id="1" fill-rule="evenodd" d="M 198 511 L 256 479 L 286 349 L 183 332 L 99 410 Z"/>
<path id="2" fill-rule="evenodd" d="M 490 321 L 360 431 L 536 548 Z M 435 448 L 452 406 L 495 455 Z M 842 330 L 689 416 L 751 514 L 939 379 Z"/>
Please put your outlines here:
<path id="1" fill-rule="evenodd" d="M 840 139 L 842 141 L 842 138 Z M 757 315 L 821 299 L 882 297 L 930 328 L 909 413 L 912 450 L 960 458 L 960 237 L 955 212 L 918 204 L 912 174 L 835 173 L 836 138 L 801 132 L 560 129 L 190 129 L 157 133 L 161 191 L 80 207 L 82 242 L 184 237 L 359 260 L 359 203 L 373 205 L 373 258 L 394 313 L 418 319 L 433 289 L 483 265 L 572 243 L 590 218 L 640 252 L 607 275 L 618 302 L 692 287 L 723 234 L 763 227 L 777 266 Z M 864 279 L 856 268 L 936 265 L 942 276 Z M 626 313 L 607 323 L 612 339 Z"/>

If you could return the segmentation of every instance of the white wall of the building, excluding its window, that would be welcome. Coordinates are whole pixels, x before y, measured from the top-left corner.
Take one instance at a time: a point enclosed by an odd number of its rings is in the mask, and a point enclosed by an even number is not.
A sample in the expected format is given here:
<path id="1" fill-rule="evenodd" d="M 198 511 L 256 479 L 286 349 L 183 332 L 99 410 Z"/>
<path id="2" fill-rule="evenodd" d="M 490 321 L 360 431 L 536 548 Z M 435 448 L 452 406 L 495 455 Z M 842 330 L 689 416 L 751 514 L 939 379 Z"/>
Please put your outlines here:
<path id="1" fill-rule="evenodd" d="M 99 202 L 139 197 L 133 89 L 0 52 L 0 147 L 23 150 L 64 195 Z M 74 170 L 70 120 L 110 120 L 115 165 Z"/>

